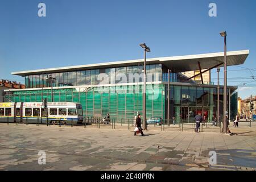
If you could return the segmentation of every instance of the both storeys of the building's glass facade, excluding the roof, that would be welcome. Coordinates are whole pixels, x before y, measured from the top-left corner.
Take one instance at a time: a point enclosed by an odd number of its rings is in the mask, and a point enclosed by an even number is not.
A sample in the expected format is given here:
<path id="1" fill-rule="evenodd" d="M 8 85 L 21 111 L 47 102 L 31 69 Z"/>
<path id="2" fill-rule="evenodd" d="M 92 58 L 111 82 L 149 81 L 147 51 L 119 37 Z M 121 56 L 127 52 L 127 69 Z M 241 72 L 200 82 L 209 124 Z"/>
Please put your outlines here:
<path id="1" fill-rule="evenodd" d="M 167 118 L 167 70 L 162 64 L 146 65 L 147 118 Z M 11 94 L 6 94 L 5 99 L 13 102 L 42 102 L 44 98 L 47 98 L 48 101 L 51 101 L 51 89 L 42 90 L 42 88 L 51 86 L 51 83 L 47 81 L 49 76 L 56 78 L 52 84 L 53 87 L 85 86 L 84 88 L 53 89 L 53 101 L 79 102 L 82 105 L 83 113 L 88 117 L 102 117 L 109 113 L 110 117 L 116 118 L 117 121 L 122 121 L 122 119 L 126 121 L 133 119 L 137 112 L 142 114 L 143 65 L 28 75 L 25 77 L 26 88 L 39 89 L 14 91 Z M 162 81 L 162 83 L 156 84 L 156 81 Z M 187 77 L 180 73 L 170 73 L 170 82 L 172 82 L 170 86 L 171 119 L 175 117 L 177 123 L 181 121 L 189 123 L 193 122 L 193 118 L 199 111 L 209 121 L 212 121 L 212 118 L 217 115 L 217 86 L 196 85 L 195 82 L 187 80 Z M 193 84 L 179 84 L 177 82 Z M 134 84 L 127 85 L 127 83 Z M 120 86 L 111 84 L 120 84 Z M 235 102 L 236 98 L 237 94 L 233 94 L 230 101 Z M 232 118 L 237 110 L 232 104 L 230 106 L 232 107 L 230 118 Z M 223 89 L 221 88 L 221 118 L 223 115 L 222 107 Z"/>

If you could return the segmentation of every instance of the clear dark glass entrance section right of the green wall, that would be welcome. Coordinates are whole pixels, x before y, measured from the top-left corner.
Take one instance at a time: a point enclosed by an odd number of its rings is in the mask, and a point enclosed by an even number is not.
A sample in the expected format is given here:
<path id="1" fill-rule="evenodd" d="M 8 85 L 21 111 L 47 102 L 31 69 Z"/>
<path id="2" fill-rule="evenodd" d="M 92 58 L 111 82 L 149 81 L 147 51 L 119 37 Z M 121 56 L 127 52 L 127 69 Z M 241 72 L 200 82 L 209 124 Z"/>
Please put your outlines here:
<path id="1" fill-rule="evenodd" d="M 168 103 L 168 85 L 166 85 L 166 108 Z M 229 93 L 229 92 L 227 92 Z M 232 99 L 235 100 L 236 94 Z M 231 100 L 232 101 L 232 100 Z M 233 101 L 234 102 L 234 101 Z M 229 104 L 229 101 L 228 101 Z M 232 104 L 230 104 L 232 106 Z M 227 105 L 228 108 L 228 105 Z M 232 111 L 231 116 L 236 111 Z M 233 109 L 234 110 L 234 109 Z M 170 86 L 170 118 L 175 117 L 179 123 L 193 122 L 193 118 L 199 111 L 209 121 L 217 116 L 217 88 L 199 87 L 199 86 Z M 223 115 L 223 89 L 220 89 L 220 117 Z M 167 118 L 167 110 L 166 110 Z"/>

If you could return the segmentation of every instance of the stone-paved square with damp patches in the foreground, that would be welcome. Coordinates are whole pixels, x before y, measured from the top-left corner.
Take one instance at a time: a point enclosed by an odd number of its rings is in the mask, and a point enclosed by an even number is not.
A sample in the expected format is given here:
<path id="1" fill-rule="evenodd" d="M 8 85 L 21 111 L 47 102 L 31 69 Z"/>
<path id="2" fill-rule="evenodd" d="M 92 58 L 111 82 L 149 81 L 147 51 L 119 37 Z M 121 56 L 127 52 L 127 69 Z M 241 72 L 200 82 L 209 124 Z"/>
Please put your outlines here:
<path id="1" fill-rule="evenodd" d="M 255 127 L 232 131 L 134 137 L 132 130 L 0 123 L 0 170 L 255 170 Z M 209 151 L 216 151 L 216 165 L 209 165 Z"/>

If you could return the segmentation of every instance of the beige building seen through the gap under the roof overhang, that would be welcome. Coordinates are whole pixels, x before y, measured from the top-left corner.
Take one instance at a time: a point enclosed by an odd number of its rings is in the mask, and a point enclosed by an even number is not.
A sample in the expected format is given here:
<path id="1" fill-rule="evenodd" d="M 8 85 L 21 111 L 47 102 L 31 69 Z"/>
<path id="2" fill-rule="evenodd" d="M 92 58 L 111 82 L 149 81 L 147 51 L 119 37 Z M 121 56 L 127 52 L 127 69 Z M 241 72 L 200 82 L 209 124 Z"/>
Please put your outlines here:
<path id="1" fill-rule="evenodd" d="M 205 71 L 205 70 L 206 69 L 202 69 L 202 72 Z M 192 77 L 192 76 L 200 74 L 200 71 L 199 70 L 188 71 L 188 72 L 182 72 L 182 74 L 187 76 L 187 77 Z M 205 72 L 202 75 L 203 75 L 203 82 L 204 82 L 204 84 L 207 84 L 207 85 L 214 84 L 213 82 L 210 81 L 210 71 Z M 201 84 L 202 83 L 201 75 L 192 78 L 192 80 L 195 80 L 197 84 Z"/>

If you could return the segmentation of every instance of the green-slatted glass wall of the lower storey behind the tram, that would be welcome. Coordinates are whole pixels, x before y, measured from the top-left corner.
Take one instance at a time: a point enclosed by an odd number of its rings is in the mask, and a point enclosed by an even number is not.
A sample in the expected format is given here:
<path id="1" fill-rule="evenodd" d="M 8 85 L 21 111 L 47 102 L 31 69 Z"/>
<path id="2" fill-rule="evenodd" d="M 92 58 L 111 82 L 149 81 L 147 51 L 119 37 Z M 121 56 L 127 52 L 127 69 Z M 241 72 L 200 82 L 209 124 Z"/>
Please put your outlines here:
<path id="1" fill-rule="evenodd" d="M 142 113 L 143 85 L 94 87 L 87 92 L 77 89 L 53 89 L 55 102 L 79 102 L 88 117 L 110 114 L 117 121 L 133 119 Z M 164 118 L 164 85 L 147 85 L 147 117 Z M 51 89 L 15 91 L 5 98 L 13 102 L 51 101 Z M 143 117 L 142 117 L 143 119 Z"/>

